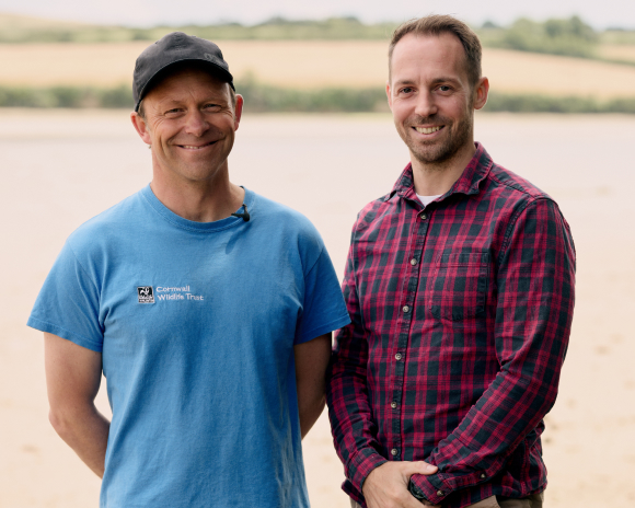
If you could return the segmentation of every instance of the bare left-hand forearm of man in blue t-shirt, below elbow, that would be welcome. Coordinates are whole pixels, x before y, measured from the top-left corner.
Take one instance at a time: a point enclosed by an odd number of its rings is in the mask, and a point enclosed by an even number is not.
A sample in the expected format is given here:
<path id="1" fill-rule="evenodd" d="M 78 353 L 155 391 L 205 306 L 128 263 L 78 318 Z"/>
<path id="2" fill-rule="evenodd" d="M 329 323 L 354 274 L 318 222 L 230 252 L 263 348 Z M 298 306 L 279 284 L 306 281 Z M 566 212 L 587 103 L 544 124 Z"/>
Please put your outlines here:
<path id="1" fill-rule="evenodd" d="M 51 408 L 49 420 L 59 437 L 103 477 L 111 423 L 96 407 Z"/>

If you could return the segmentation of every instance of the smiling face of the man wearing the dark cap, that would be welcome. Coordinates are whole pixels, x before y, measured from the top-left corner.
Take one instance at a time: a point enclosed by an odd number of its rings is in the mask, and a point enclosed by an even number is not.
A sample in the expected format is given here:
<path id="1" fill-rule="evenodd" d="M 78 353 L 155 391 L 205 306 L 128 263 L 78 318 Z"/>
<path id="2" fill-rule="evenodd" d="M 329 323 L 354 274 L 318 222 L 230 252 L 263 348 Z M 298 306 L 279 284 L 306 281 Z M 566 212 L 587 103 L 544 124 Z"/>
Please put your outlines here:
<path id="1" fill-rule="evenodd" d="M 229 84 L 197 68 L 163 79 L 143 99 L 136 126 L 152 147 L 154 171 L 168 180 L 204 182 L 227 171 L 242 97 L 232 104 Z M 141 125 L 142 124 L 142 125 Z"/>

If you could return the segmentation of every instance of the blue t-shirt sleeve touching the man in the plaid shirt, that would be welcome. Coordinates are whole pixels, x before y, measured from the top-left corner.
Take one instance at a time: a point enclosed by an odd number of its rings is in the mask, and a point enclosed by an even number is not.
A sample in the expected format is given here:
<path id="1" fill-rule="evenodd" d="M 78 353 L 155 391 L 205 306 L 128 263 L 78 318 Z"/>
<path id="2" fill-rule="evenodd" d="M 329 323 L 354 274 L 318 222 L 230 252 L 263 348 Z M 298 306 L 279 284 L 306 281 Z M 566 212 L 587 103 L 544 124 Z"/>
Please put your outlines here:
<path id="1" fill-rule="evenodd" d="M 322 246 L 304 274 L 304 301 L 296 327 L 295 344 L 305 343 L 350 323 L 333 263 Z"/>

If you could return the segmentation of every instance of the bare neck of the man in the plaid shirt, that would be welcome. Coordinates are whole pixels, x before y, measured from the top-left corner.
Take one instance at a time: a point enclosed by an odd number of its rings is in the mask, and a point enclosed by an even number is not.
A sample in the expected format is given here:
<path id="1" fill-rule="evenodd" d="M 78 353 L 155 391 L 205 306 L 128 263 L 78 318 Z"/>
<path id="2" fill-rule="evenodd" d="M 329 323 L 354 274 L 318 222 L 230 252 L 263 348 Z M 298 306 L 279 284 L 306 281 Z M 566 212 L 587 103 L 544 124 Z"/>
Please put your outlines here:
<path id="1" fill-rule="evenodd" d="M 423 162 L 411 153 L 415 192 L 419 196 L 446 194 L 461 177 L 475 151 L 476 148 L 471 140 L 450 159 L 441 162 Z"/>

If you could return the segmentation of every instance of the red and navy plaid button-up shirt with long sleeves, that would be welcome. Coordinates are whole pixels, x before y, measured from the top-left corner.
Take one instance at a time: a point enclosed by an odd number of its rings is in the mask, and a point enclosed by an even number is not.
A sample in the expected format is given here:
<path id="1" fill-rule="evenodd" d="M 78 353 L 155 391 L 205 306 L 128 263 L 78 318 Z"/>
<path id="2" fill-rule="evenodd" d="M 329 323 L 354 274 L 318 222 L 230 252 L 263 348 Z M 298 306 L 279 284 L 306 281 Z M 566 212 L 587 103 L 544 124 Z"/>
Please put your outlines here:
<path id="1" fill-rule="evenodd" d="M 425 210 L 412 166 L 353 230 L 328 409 L 344 490 L 386 460 L 432 504 L 461 508 L 546 486 L 540 435 L 574 310 L 575 249 L 543 192 L 478 143 Z"/>

